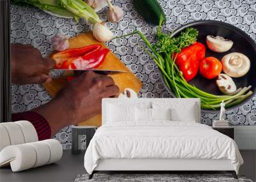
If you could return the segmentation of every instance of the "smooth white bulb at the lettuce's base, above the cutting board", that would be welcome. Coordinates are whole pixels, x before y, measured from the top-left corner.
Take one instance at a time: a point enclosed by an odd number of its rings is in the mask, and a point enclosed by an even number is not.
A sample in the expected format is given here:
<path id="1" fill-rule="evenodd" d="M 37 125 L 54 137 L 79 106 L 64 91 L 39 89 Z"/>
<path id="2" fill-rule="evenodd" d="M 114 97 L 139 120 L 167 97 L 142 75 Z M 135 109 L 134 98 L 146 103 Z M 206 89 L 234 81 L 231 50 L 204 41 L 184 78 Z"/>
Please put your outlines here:
<path id="1" fill-rule="evenodd" d="M 114 34 L 107 27 L 102 26 L 100 23 L 94 24 L 92 33 L 94 38 L 100 42 L 112 40 L 114 37 Z"/>

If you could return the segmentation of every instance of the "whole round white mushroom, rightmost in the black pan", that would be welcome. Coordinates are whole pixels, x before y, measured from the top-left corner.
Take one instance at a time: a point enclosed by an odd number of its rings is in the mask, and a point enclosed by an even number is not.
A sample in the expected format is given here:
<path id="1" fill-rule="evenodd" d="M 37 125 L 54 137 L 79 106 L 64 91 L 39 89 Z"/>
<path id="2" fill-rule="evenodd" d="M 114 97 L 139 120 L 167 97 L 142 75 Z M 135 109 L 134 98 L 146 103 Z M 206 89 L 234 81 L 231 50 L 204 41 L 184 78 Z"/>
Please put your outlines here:
<path id="1" fill-rule="evenodd" d="M 250 59 L 239 52 L 232 52 L 221 59 L 223 72 L 230 77 L 243 77 L 250 70 Z"/>

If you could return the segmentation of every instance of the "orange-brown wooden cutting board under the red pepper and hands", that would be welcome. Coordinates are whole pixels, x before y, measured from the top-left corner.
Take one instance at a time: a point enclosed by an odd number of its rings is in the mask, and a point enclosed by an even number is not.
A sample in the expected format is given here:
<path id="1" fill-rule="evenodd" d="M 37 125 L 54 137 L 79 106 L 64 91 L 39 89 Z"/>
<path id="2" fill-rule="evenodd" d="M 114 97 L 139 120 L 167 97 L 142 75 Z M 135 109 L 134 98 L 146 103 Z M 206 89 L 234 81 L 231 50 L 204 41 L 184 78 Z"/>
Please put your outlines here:
<path id="1" fill-rule="evenodd" d="M 106 47 L 102 42 L 98 42 L 93 38 L 91 32 L 79 34 L 70 38 L 69 40 L 69 48 L 79 48 L 92 44 L 101 44 L 102 47 Z M 120 92 L 123 92 L 125 88 L 129 87 L 136 91 L 137 93 L 141 89 L 141 81 L 118 59 L 118 57 L 113 54 L 113 52 L 109 52 L 103 64 L 99 66 L 99 69 L 104 70 L 124 70 L 127 73 L 120 75 L 111 75 L 113 80 L 115 80 L 115 84 L 119 87 Z M 45 83 L 44 87 L 49 92 L 49 94 L 54 97 L 58 93 L 58 91 L 67 84 L 65 78 L 57 78 L 52 79 L 51 82 Z M 69 101 L 67 101 L 69 102 Z M 100 126 L 101 125 L 101 114 L 80 123 L 79 125 L 90 125 L 90 126 Z"/>

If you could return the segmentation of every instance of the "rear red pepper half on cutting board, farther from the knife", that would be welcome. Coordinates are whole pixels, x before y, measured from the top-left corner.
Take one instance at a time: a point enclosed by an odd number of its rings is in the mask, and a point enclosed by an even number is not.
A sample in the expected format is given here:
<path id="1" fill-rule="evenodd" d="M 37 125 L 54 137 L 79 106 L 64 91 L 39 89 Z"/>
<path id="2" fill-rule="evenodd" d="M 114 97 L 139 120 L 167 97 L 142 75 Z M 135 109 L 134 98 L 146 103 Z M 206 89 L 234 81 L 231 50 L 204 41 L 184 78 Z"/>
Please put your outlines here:
<path id="1" fill-rule="evenodd" d="M 64 61 L 67 61 L 72 57 L 83 56 L 84 54 L 92 52 L 93 50 L 99 50 L 101 47 L 102 45 L 89 45 L 89 46 L 81 47 L 77 49 L 67 49 L 61 52 L 57 52 L 52 56 L 52 59 L 54 59 L 54 61 L 56 62 L 55 67 L 61 68 L 61 65 L 63 64 Z"/>

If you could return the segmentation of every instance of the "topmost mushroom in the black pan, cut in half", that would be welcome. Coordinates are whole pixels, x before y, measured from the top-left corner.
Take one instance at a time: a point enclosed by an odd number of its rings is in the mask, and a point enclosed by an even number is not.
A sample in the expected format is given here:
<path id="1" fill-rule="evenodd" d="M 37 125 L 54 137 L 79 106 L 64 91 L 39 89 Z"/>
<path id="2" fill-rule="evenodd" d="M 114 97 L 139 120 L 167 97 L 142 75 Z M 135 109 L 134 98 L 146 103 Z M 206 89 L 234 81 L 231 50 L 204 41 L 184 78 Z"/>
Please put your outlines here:
<path id="1" fill-rule="evenodd" d="M 232 40 L 223 38 L 222 36 L 206 36 L 206 43 L 209 49 L 214 52 L 226 52 L 231 49 L 233 45 Z"/>

